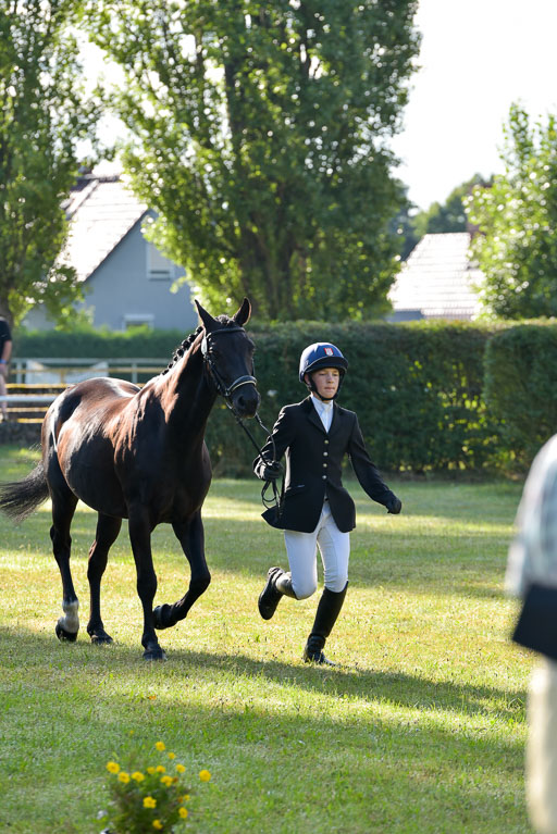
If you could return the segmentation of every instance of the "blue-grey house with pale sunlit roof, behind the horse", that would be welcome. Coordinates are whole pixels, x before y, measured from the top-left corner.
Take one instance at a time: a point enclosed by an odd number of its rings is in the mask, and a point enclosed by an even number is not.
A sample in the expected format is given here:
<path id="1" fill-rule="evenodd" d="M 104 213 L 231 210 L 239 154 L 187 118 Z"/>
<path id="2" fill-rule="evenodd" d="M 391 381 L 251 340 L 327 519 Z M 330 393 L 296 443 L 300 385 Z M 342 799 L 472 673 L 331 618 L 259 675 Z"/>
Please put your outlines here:
<path id="1" fill-rule="evenodd" d="M 148 324 L 187 332 L 197 325 L 189 286 L 172 291 L 184 270 L 144 237 L 143 226 L 154 213 L 119 175 L 79 177 L 66 210 L 71 226 L 62 260 L 84 285 L 85 301 L 76 309 L 87 311 L 95 327 L 122 331 Z M 47 329 L 53 323 L 38 306 L 24 326 Z"/>

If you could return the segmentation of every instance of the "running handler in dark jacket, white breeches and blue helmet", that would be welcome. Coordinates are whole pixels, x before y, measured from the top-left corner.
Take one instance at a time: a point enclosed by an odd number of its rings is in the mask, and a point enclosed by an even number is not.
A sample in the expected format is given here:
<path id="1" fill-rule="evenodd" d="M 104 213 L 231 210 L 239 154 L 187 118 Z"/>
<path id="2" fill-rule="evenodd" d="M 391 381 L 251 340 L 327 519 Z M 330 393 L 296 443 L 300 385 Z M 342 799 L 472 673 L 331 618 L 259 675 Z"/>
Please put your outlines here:
<path id="1" fill-rule="evenodd" d="M 259 597 L 259 612 L 270 620 L 282 596 L 305 599 L 318 585 L 317 548 L 321 552 L 324 589 L 313 627 L 306 643 L 306 662 L 334 665 L 323 653 L 348 587 L 349 531 L 356 526 L 355 505 L 342 483 L 342 462 L 348 455 L 362 488 L 391 513 L 401 502 L 383 483 L 366 450 L 358 418 L 337 406 L 348 362 L 330 343 L 310 345 L 302 352 L 299 379 L 310 391 L 301 402 L 285 406 L 262 449 L 264 460 L 253 462 L 262 481 L 280 476 L 278 461 L 286 456 L 284 499 L 263 513 L 273 527 L 284 530 L 289 572 L 271 568 Z"/>

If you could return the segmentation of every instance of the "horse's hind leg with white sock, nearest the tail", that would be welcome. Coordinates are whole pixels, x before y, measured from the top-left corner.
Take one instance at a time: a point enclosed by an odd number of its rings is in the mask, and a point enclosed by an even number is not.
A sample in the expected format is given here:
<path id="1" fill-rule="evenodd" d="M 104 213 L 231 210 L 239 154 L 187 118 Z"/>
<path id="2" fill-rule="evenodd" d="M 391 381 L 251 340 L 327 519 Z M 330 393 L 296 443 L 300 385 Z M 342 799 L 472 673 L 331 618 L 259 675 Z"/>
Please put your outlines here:
<path id="1" fill-rule="evenodd" d="M 79 602 L 75 593 L 70 570 L 70 555 L 72 549 L 72 537 L 70 536 L 70 526 L 74 516 L 77 498 L 72 493 L 65 482 L 53 488 L 52 491 L 52 526 L 50 527 L 50 538 L 52 539 L 52 550 L 54 559 L 62 576 L 62 610 L 64 615 L 57 623 L 55 632 L 60 640 L 70 640 L 74 643 L 79 631 L 78 608 Z"/>

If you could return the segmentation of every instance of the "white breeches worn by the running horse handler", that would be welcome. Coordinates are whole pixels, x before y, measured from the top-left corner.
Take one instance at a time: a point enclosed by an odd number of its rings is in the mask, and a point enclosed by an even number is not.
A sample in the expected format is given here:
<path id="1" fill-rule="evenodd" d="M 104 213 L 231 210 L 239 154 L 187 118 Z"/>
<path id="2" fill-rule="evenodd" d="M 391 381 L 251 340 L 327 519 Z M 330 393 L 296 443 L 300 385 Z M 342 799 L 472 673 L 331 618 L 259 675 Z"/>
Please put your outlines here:
<path id="1" fill-rule="evenodd" d="M 318 587 L 317 548 L 323 562 L 324 585 L 338 593 L 348 582 L 350 534 L 341 533 L 325 501 L 313 533 L 284 531 L 284 543 L 292 573 L 292 586 L 298 599 L 315 593 Z"/>

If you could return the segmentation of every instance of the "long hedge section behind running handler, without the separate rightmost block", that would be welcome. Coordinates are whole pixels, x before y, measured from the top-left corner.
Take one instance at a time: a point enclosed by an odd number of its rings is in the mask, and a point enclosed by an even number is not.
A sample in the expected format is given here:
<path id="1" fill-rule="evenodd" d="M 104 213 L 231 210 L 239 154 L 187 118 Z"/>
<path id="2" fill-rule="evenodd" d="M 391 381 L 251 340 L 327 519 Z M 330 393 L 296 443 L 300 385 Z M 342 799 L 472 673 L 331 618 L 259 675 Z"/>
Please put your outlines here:
<path id="1" fill-rule="evenodd" d="M 310 343 L 333 341 L 349 361 L 339 401 L 358 412 L 380 469 L 480 469 L 499 451 L 482 399 L 490 335 L 460 323 L 277 325 L 255 334 L 261 418 L 271 427 L 284 403 L 306 396 L 299 356 Z M 208 443 L 223 470 L 250 469 L 252 450 L 226 409 L 211 416 Z"/>

